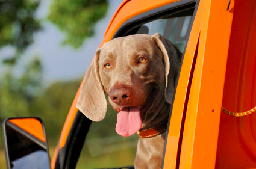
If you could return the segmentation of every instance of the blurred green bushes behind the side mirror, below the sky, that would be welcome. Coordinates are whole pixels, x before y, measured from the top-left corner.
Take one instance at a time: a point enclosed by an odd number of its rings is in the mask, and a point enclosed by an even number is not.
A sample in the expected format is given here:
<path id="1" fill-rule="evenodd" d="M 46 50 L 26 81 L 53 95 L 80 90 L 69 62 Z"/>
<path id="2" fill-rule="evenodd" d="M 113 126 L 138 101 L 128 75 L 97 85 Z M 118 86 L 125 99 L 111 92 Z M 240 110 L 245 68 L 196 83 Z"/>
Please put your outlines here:
<path id="1" fill-rule="evenodd" d="M 50 146 L 56 146 L 81 79 L 54 82 L 46 88 L 42 83 L 39 57 L 27 64 L 19 78 L 13 76 L 10 68 L 0 80 L 0 122 L 8 117 L 40 117 L 45 122 Z"/>

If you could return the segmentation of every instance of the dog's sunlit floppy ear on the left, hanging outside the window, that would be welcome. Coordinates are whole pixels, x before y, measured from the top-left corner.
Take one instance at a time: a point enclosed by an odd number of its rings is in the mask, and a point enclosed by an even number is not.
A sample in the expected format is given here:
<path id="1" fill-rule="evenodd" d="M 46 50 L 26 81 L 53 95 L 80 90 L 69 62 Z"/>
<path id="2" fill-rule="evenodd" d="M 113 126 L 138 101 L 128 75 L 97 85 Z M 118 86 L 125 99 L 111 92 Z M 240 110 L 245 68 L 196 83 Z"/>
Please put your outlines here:
<path id="1" fill-rule="evenodd" d="M 100 52 L 101 49 L 96 51 L 95 58 L 86 72 L 76 105 L 76 107 L 92 121 L 101 121 L 107 111 L 107 101 L 99 77 L 98 61 Z"/>

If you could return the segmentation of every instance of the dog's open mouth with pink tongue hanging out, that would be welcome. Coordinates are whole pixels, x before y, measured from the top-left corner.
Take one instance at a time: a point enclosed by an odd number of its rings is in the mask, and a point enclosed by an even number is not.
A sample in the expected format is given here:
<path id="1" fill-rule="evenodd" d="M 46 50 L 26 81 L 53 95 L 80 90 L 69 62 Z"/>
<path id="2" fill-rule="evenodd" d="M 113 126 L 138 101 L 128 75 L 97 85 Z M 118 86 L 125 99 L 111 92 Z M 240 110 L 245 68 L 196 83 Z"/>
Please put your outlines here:
<path id="1" fill-rule="evenodd" d="M 155 99 L 155 89 L 142 105 L 119 108 L 117 114 L 116 132 L 122 136 L 130 136 L 142 128 L 143 114 L 149 109 Z"/>

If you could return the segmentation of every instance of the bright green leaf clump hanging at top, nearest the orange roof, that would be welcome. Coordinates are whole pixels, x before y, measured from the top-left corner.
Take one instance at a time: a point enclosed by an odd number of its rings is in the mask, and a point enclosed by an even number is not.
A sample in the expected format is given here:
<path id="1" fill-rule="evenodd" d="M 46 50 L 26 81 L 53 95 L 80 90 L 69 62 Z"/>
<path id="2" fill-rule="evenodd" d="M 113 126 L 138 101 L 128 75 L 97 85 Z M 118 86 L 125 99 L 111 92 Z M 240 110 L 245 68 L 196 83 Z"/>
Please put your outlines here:
<path id="1" fill-rule="evenodd" d="M 54 0 L 48 18 L 66 33 L 64 45 L 79 48 L 92 37 L 95 23 L 105 16 L 107 8 L 106 0 Z"/>

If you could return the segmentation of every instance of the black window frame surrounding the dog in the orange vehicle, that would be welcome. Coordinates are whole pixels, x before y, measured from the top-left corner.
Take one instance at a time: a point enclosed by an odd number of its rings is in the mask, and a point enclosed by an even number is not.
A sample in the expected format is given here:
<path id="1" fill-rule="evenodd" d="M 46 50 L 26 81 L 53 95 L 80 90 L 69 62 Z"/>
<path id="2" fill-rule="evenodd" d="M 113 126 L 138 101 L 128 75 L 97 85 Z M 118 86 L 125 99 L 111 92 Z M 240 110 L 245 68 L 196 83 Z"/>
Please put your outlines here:
<path id="1" fill-rule="evenodd" d="M 175 1 L 167 5 L 163 5 L 158 8 L 154 8 L 152 10 L 146 11 L 145 13 L 138 14 L 137 16 L 132 17 L 131 19 L 126 20 L 125 23 L 123 23 L 117 31 L 114 33 L 113 37 L 111 39 L 117 38 L 117 37 L 123 37 L 128 34 L 132 29 L 135 29 L 145 23 L 151 22 L 153 20 L 161 19 L 167 16 L 170 16 L 175 13 L 179 13 L 184 10 L 188 10 L 190 8 L 195 8 L 192 20 L 188 29 L 187 34 L 187 40 L 186 44 L 184 46 L 184 51 L 186 51 L 187 42 L 190 36 L 190 32 L 192 29 L 193 22 L 195 20 L 196 11 L 198 10 L 199 0 L 181 0 L 181 1 Z M 181 64 L 178 71 L 177 78 L 180 77 L 180 70 L 183 63 L 184 58 L 184 51 L 183 56 L 181 58 Z M 176 93 L 176 87 L 175 85 L 175 91 Z M 175 94 L 173 95 L 172 105 L 170 108 L 170 115 L 167 125 L 167 131 L 169 131 L 169 124 L 170 124 L 170 117 L 172 115 L 172 108 L 173 108 L 173 102 L 174 102 Z M 65 146 L 61 148 L 60 152 L 58 153 L 57 160 L 55 162 L 55 169 L 57 168 L 74 168 L 76 167 L 76 163 L 78 162 L 78 159 L 80 157 L 80 152 L 83 149 L 84 141 L 86 140 L 87 133 L 90 129 L 91 120 L 89 118 L 85 117 L 79 110 L 76 112 L 76 117 L 73 120 L 72 127 L 69 131 L 69 134 L 67 135 L 67 140 L 65 143 Z M 86 132 L 84 132 L 86 131 Z M 80 138 L 80 139 L 79 139 Z M 167 135 L 166 140 L 164 143 L 164 154 L 163 154 L 163 163 L 162 168 L 164 164 L 164 155 L 166 152 L 166 143 L 167 143 Z M 75 155 L 75 156 L 70 156 Z"/>

